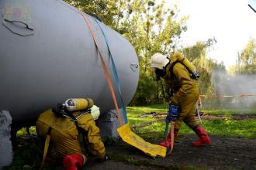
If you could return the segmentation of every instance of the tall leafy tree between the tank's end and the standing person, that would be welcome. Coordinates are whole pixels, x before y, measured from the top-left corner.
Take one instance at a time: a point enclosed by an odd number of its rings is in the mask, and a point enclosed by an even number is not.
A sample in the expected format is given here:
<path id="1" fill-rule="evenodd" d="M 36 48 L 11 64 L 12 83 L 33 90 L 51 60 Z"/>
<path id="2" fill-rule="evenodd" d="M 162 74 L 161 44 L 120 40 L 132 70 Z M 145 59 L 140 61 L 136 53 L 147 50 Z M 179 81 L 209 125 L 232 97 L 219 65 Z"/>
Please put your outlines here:
<path id="1" fill-rule="evenodd" d="M 125 36 L 137 51 L 140 61 L 140 81 L 133 104 L 162 102 L 160 83 L 154 81 L 149 69 L 150 56 L 154 53 L 169 55 L 175 50 L 182 32 L 186 30 L 187 17 L 178 19 L 178 8 L 164 8 L 164 0 L 156 4 L 150 0 L 133 0 L 126 4 L 125 15 L 120 21 Z M 124 29 L 125 28 L 125 29 Z"/>

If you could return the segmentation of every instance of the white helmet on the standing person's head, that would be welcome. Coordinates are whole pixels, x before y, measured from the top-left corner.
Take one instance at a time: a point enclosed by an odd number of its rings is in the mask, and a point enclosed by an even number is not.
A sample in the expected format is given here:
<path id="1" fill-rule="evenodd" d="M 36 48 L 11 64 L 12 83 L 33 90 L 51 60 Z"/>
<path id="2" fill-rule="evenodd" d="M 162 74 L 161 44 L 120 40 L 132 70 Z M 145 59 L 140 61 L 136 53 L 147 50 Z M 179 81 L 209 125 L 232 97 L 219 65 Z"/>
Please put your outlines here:
<path id="1" fill-rule="evenodd" d="M 162 70 L 164 66 L 166 66 L 168 63 L 169 63 L 168 57 L 164 56 L 161 53 L 155 53 L 153 56 L 151 56 L 151 59 L 150 59 L 151 68 L 157 68 Z"/>

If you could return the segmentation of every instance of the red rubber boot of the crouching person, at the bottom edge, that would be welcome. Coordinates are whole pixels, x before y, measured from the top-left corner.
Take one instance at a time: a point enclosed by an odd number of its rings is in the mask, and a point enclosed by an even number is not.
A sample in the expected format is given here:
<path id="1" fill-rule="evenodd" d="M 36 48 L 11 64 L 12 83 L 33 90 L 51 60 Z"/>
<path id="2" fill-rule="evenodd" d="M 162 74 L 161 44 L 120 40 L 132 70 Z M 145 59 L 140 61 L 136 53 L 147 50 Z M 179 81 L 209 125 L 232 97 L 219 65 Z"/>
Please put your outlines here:
<path id="1" fill-rule="evenodd" d="M 65 170 L 78 170 L 84 165 L 84 157 L 81 154 L 71 154 L 63 158 Z"/>

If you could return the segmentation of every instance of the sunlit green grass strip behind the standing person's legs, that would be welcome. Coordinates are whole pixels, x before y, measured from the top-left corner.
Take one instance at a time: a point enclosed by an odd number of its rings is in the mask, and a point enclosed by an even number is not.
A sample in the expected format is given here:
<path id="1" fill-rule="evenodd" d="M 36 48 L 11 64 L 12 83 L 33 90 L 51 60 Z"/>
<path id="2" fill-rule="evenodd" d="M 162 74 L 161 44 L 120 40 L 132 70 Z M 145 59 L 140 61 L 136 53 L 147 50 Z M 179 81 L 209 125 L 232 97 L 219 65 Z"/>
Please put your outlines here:
<path id="1" fill-rule="evenodd" d="M 128 123 L 138 134 L 147 134 L 155 132 L 164 135 L 165 122 L 157 121 L 159 118 L 139 117 L 141 114 L 150 112 L 167 113 L 168 105 L 150 105 L 147 107 L 127 107 Z M 256 119 L 247 119 L 236 121 L 230 117 L 230 114 L 256 114 L 256 110 L 203 110 L 210 114 L 224 114 L 227 116 L 225 120 L 213 119 L 210 121 L 202 120 L 202 126 L 206 128 L 209 134 L 220 136 L 234 136 L 240 138 L 256 138 Z M 157 122 L 156 122 L 157 121 Z M 152 123 L 153 124 L 150 124 Z M 140 124 L 148 124 L 144 128 L 136 128 Z M 182 124 L 179 131 L 180 134 L 194 133 L 188 126 Z"/>

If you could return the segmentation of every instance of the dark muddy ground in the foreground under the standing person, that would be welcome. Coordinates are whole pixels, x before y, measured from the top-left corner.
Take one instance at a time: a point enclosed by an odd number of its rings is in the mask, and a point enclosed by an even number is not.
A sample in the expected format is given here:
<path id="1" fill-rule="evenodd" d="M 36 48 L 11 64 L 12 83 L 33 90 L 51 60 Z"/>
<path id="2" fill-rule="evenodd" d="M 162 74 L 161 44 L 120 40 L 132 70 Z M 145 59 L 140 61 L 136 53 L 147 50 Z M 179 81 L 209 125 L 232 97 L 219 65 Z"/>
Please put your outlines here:
<path id="1" fill-rule="evenodd" d="M 159 116 L 159 114 L 156 114 Z M 164 114 L 166 115 L 166 114 Z M 202 114 L 203 119 L 226 118 L 223 115 Z M 236 120 L 255 118 L 256 114 L 232 115 Z M 144 124 L 146 126 L 148 124 Z M 150 136 L 150 134 L 149 134 Z M 150 158 L 124 141 L 106 146 L 110 160 L 89 160 L 84 169 L 256 169 L 256 138 L 210 136 L 211 145 L 199 148 L 190 143 L 197 140 L 195 134 L 179 135 L 172 154 L 166 158 Z M 157 144 L 159 139 L 144 138 Z"/>

